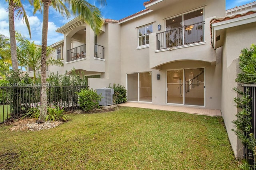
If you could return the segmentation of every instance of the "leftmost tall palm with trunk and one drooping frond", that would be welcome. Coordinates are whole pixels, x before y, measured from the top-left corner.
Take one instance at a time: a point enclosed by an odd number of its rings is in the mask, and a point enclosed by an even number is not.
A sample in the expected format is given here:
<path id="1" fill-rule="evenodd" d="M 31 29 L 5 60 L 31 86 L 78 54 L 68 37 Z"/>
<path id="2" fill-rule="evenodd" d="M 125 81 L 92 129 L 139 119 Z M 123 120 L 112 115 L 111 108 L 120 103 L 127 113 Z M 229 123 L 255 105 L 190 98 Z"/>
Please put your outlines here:
<path id="1" fill-rule="evenodd" d="M 6 0 L 7 1 L 7 0 Z M 16 17 L 23 18 L 25 20 L 25 24 L 28 28 L 28 32 L 31 39 L 30 25 L 28 22 L 28 18 L 26 15 L 26 11 L 24 10 L 22 3 L 20 0 L 8 0 L 9 8 L 9 33 L 10 33 L 10 46 L 11 46 L 11 58 L 12 58 L 12 69 L 14 71 L 18 71 L 18 57 L 16 51 L 16 40 L 15 40 L 15 26 L 14 26 L 14 11 L 16 11 Z"/>

